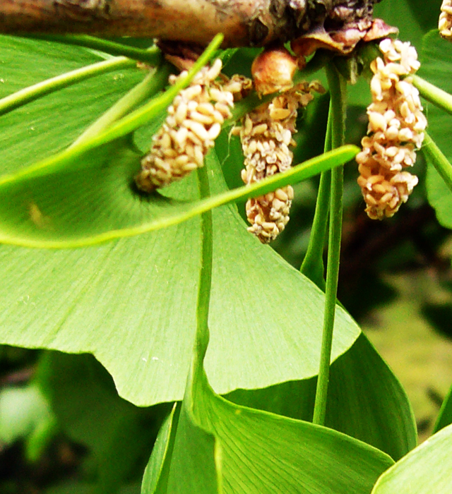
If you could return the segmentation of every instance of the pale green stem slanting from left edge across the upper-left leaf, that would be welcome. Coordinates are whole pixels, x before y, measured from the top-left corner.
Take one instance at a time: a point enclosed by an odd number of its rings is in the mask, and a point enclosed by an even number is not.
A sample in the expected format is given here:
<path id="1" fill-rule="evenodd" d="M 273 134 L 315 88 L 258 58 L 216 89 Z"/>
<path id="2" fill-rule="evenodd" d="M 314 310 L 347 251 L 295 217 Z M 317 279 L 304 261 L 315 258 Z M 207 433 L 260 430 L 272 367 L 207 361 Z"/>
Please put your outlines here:
<path id="1" fill-rule="evenodd" d="M 107 61 L 97 62 L 97 64 L 88 65 L 86 67 L 77 68 L 75 71 L 66 72 L 61 74 L 61 76 L 43 80 L 41 83 L 34 84 L 28 88 L 24 88 L 18 92 L 14 92 L 12 95 L 2 98 L 0 100 L 0 115 L 4 115 L 26 103 L 48 95 L 50 92 L 80 83 L 82 80 L 100 76 L 102 73 L 115 71 L 119 68 L 133 67 L 135 65 L 135 61 L 124 57 L 119 57 Z M 24 68 L 24 70 L 26 70 L 26 68 Z"/>

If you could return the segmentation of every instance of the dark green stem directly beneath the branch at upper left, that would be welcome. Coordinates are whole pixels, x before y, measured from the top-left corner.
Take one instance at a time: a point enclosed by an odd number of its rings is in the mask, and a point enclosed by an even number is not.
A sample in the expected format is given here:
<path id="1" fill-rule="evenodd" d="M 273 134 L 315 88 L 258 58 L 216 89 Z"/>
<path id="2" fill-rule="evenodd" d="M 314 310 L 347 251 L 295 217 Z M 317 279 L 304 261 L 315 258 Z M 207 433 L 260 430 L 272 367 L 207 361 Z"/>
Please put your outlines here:
<path id="1" fill-rule="evenodd" d="M 102 40 L 89 35 L 30 35 L 26 37 L 63 44 L 76 44 L 80 47 L 100 50 L 100 52 L 114 56 L 126 56 L 129 59 L 143 61 L 153 66 L 159 64 L 161 60 L 160 50 L 157 47 L 150 47 L 149 49 L 129 47 L 126 44 Z"/>

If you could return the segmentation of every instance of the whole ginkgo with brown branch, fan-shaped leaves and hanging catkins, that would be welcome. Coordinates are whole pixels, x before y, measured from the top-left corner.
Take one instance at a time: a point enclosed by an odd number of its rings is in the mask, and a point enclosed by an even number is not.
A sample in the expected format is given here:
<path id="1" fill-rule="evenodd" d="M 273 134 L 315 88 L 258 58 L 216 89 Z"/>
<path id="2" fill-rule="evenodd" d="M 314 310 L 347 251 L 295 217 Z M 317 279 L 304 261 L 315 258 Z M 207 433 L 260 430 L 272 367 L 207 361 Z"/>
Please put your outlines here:
<path id="1" fill-rule="evenodd" d="M 29 450 L 58 423 L 90 446 L 97 478 L 79 489 L 124 488 L 155 435 L 143 494 L 452 484 L 451 397 L 416 447 L 403 387 L 336 299 L 344 164 L 384 220 L 422 153 L 452 228 L 452 6 L 429 12 L 441 37 L 423 2 L 378 3 L 0 5 L 0 342 L 92 354 L 112 376 L 117 391 L 92 358 L 49 352 L 32 382 L 47 401 Z M 159 40 L 105 39 L 119 35 Z M 362 149 L 345 142 L 357 80 Z M 292 162 L 325 90 L 325 152 Z M 285 229 L 292 185 L 318 174 L 295 270 L 263 243 Z"/>

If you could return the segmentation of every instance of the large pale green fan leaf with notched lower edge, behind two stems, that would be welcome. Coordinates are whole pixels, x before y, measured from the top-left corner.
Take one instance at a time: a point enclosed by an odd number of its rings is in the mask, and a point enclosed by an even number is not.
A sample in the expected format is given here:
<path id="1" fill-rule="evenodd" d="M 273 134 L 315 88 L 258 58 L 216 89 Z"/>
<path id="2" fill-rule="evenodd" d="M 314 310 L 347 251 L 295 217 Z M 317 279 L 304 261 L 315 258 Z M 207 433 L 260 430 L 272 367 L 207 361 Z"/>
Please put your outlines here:
<path id="1" fill-rule="evenodd" d="M 224 191 L 218 162 L 207 165 L 213 193 Z M 194 176 L 176 188 L 182 198 L 193 197 Z M 316 375 L 323 293 L 250 235 L 233 205 L 213 210 L 213 221 L 206 369 L 215 390 Z M 119 394 L 138 405 L 182 399 L 194 344 L 199 263 L 198 217 L 95 248 L 1 246 L 0 341 L 93 353 Z M 343 309 L 336 320 L 333 360 L 359 335 Z"/>

